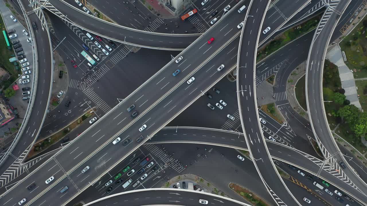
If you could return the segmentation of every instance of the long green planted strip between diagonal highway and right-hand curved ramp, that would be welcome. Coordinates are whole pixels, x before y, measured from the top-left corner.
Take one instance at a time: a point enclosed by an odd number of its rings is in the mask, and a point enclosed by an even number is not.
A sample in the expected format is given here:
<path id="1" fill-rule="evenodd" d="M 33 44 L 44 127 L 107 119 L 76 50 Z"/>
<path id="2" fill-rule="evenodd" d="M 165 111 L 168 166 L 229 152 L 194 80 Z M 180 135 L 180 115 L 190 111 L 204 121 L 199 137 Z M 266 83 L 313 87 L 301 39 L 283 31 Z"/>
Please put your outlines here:
<path id="1" fill-rule="evenodd" d="M 321 15 L 315 16 L 314 18 L 298 26 L 286 30 L 283 34 L 276 37 L 257 51 L 256 62 L 264 59 L 266 56 L 272 54 L 280 47 L 283 47 L 292 40 L 295 40 L 297 37 L 302 36 L 303 34 L 315 29 L 317 27 L 317 24 L 319 23 L 320 18 Z"/>

